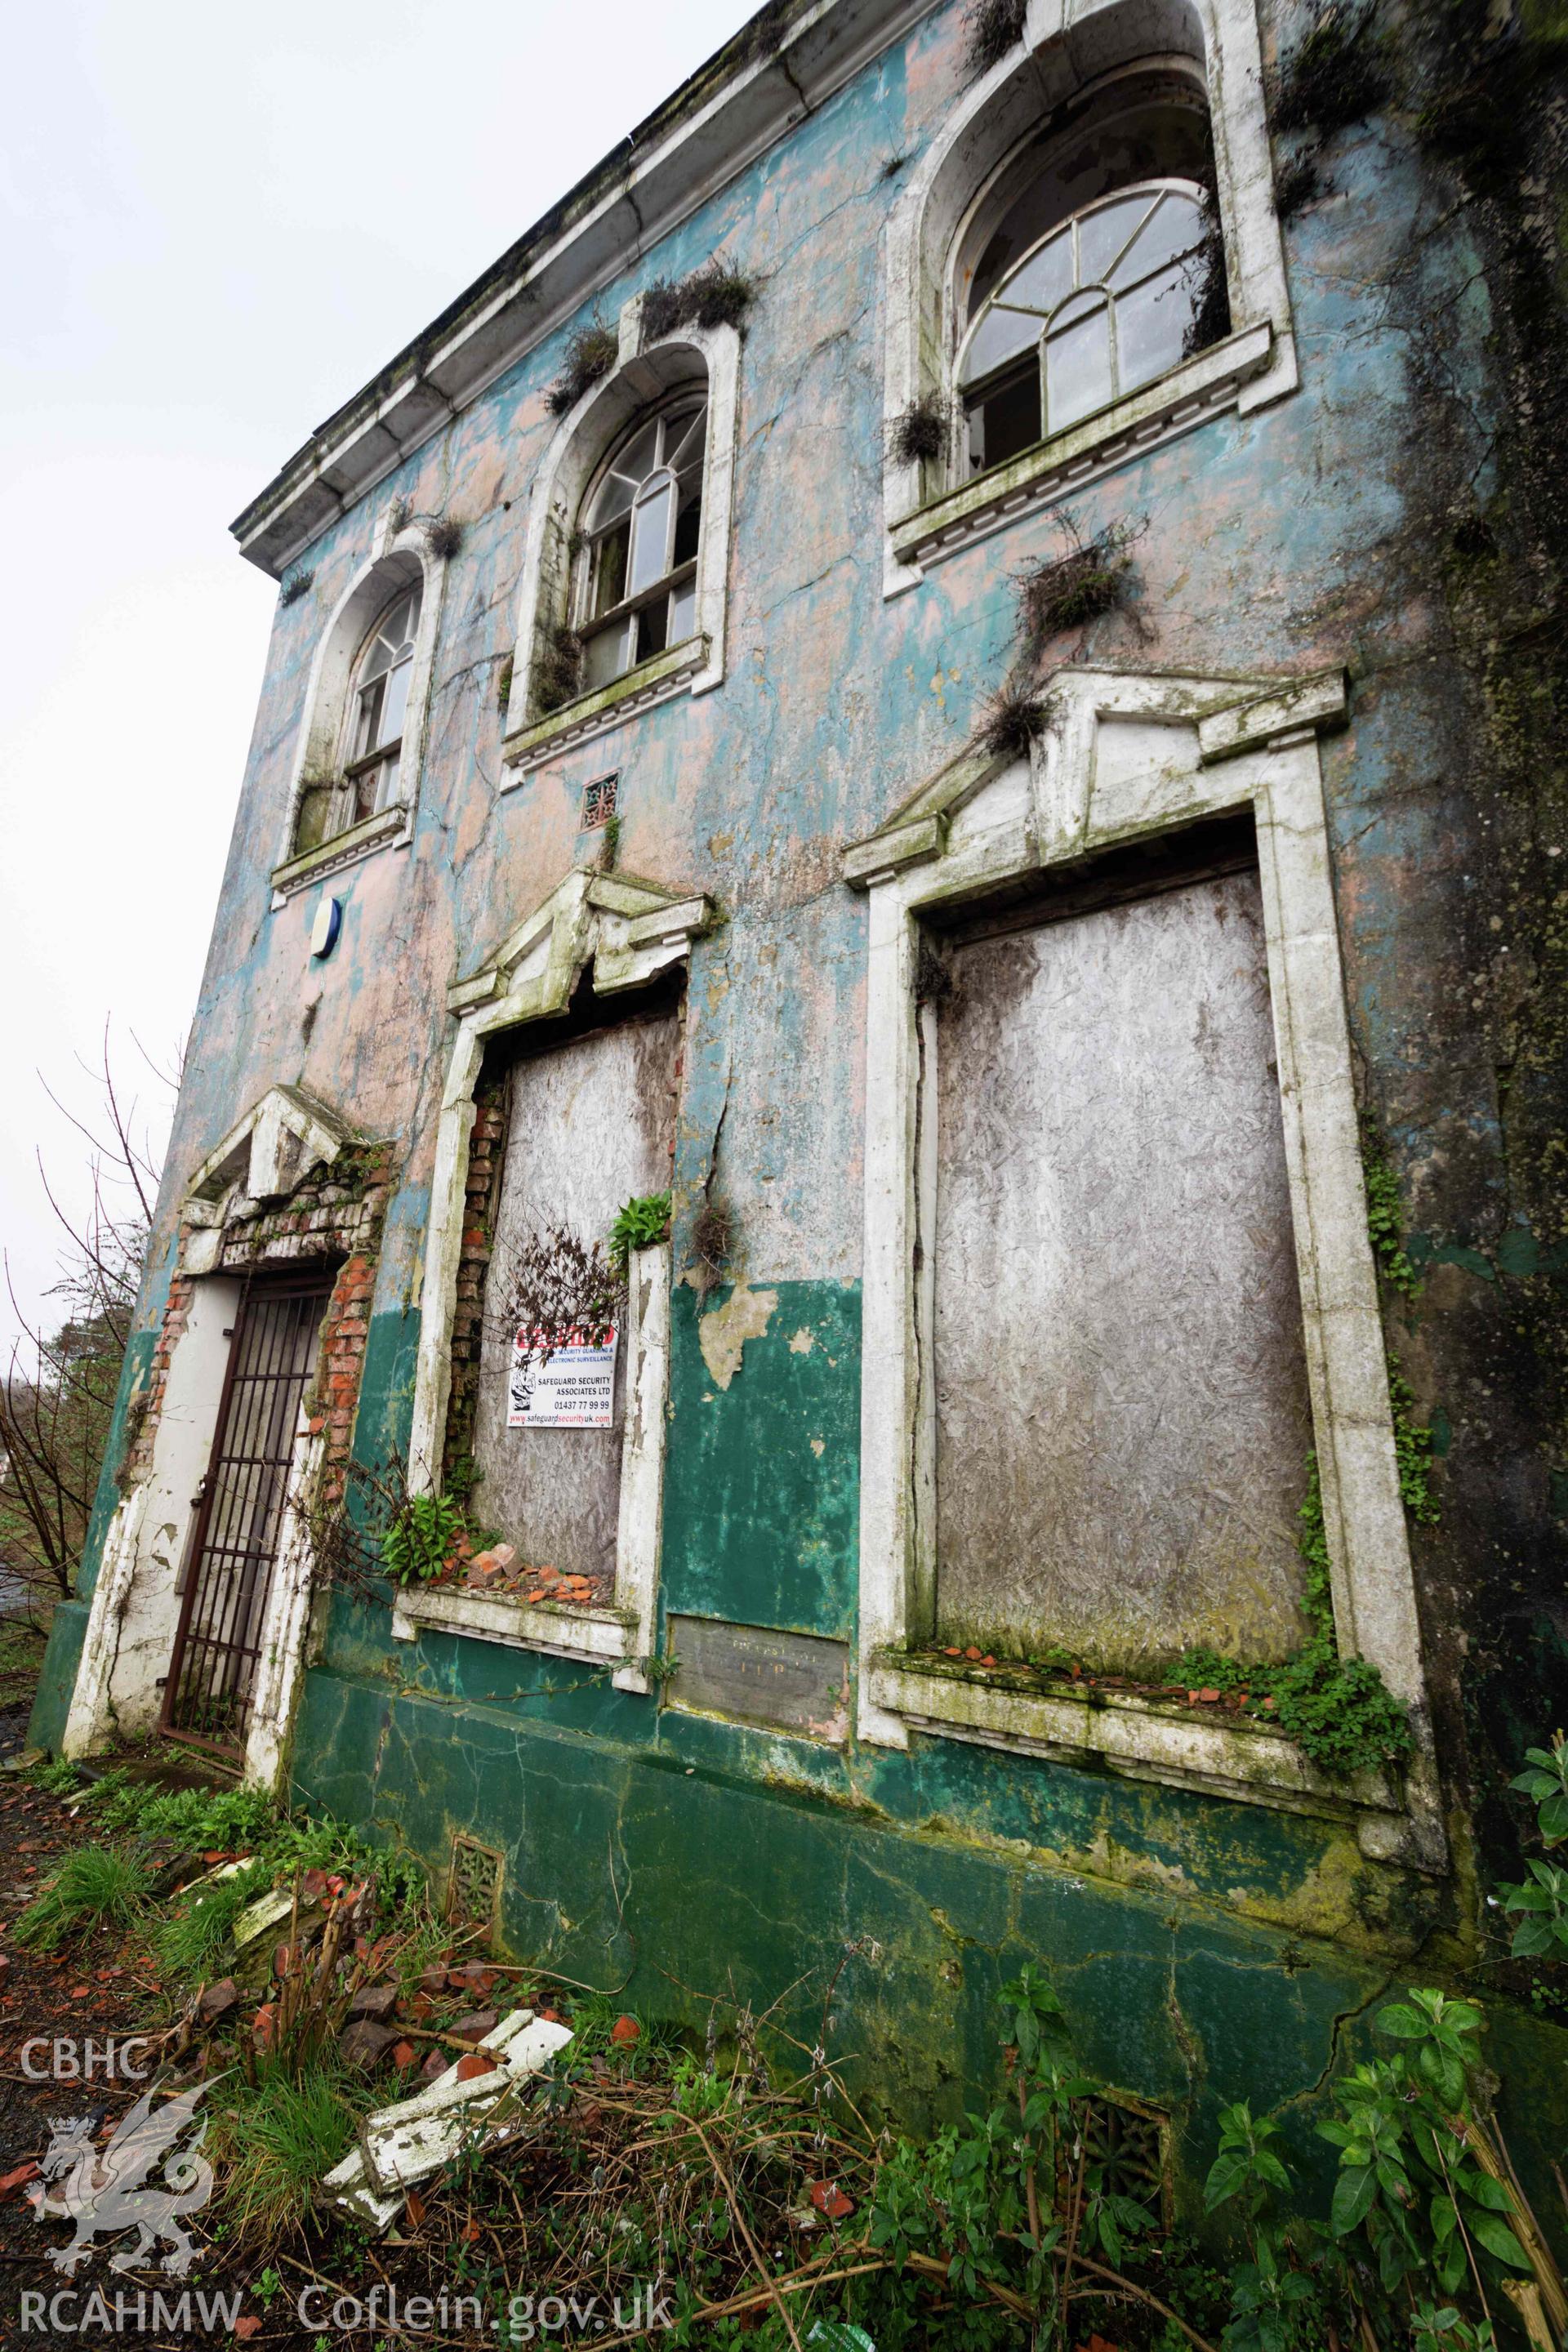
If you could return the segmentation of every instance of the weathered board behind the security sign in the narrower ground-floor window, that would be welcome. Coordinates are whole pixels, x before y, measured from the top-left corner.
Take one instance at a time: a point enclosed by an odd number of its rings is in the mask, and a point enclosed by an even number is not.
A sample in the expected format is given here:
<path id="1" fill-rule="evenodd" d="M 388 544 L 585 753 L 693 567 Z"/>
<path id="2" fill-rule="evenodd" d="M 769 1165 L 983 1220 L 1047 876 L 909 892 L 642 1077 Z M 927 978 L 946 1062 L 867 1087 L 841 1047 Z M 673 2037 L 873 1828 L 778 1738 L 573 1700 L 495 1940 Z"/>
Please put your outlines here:
<path id="1" fill-rule="evenodd" d="M 618 1021 L 517 1061 L 510 1077 L 480 1357 L 475 1517 L 498 1526 L 529 1566 L 592 1576 L 599 1597 L 609 1597 L 616 1573 L 625 1331 L 614 1428 L 508 1428 L 512 1331 L 503 1298 L 508 1268 L 529 1237 L 567 1228 L 602 1247 L 623 1202 L 668 1192 L 677 1035 L 672 1011 Z"/>

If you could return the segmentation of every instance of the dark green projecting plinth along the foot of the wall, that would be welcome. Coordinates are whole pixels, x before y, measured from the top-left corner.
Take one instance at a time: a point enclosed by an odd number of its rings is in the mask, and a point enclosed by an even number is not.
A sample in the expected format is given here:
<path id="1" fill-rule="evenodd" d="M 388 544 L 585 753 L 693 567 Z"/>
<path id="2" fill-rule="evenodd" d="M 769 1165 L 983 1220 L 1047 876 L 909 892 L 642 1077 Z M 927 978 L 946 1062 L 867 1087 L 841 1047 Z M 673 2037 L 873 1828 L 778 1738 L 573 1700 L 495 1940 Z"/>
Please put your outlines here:
<path id="1" fill-rule="evenodd" d="M 701 2025 L 712 1994 L 757 2013 L 783 1997 L 776 2020 L 811 2042 L 842 1971 L 830 2046 L 856 2096 L 912 2124 L 994 2082 L 992 1994 L 1027 1957 L 1067 2002 L 1079 2063 L 1168 2110 L 1187 2220 L 1232 2098 L 1279 2112 L 1305 2176 L 1326 2185 L 1333 2154 L 1312 2131 L 1324 2082 L 1371 2051 L 1396 1966 L 954 1828 L 893 1823 L 769 1780 L 743 1748 L 729 1764 L 679 1731 L 630 1748 L 614 1736 L 628 1722 L 595 1736 L 536 1705 L 522 1719 L 515 1705 L 317 1670 L 296 1795 L 435 1872 L 456 1830 L 498 1849 L 505 1947 L 646 2013 Z M 1568 2032 L 1500 2013 L 1493 2063 L 1544 2206 L 1568 2133 Z"/>

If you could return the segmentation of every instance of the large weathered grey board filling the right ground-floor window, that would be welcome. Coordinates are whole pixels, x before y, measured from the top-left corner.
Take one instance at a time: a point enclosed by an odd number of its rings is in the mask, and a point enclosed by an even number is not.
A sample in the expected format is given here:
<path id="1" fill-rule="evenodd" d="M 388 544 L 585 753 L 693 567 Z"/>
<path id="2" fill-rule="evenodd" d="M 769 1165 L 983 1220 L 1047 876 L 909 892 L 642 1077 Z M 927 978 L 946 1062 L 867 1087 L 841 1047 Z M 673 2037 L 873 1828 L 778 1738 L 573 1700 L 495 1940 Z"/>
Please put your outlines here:
<path id="1" fill-rule="evenodd" d="M 1309 1411 L 1258 875 L 978 931 L 936 997 L 938 1637 L 1286 1656 Z"/>

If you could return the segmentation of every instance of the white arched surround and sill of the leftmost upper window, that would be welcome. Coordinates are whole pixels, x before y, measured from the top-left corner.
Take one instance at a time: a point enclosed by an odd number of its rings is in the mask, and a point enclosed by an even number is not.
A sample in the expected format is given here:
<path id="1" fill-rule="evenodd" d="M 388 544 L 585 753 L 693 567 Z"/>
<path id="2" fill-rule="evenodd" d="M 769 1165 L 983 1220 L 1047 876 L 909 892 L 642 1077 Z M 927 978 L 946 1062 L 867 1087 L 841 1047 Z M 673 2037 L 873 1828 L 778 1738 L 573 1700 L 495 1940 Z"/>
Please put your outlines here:
<path id="1" fill-rule="evenodd" d="M 374 849 L 402 847 L 414 837 L 414 804 L 418 800 L 418 774 L 425 736 L 425 713 L 430 703 L 430 668 L 435 661 L 435 628 L 442 607 L 442 583 L 447 560 L 435 555 L 418 524 L 404 522 L 393 529 L 397 508 L 388 506 L 376 524 L 371 553 L 355 572 L 353 581 L 331 609 L 317 640 L 310 677 L 306 684 L 306 708 L 294 750 L 294 771 L 284 804 L 277 866 L 273 868 L 273 908 L 322 882 L 327 875 L 357 866 Z M 397 769 L 397 800 L 374 816 L 360 818 L 343 833 L 317 842 L 315 849 L 294 849 L 294 828 L 306 786 L 336 774 L 343 755 L 343 722 L 348 689 L 367 633 L 381 619 L 400 586 L 421 581 L 418 635 L 409 675 L 409 703 L 402 722 L 402 760 Z"/>

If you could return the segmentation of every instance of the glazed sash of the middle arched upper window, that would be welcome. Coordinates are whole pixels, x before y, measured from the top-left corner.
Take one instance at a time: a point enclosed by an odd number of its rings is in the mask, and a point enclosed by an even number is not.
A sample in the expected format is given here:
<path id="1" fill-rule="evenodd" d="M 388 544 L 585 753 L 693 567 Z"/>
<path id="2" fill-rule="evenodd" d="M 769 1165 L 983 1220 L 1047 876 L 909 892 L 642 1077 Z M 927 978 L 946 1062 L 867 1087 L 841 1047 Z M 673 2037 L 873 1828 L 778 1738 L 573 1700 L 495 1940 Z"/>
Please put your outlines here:
<path id="1" fill-rule="evenodd" d="M 696 628 L 705 433 L 708 402 L 672 400 L 632 426 L 583 501 L 576 630 L 588 691 Z"/>

